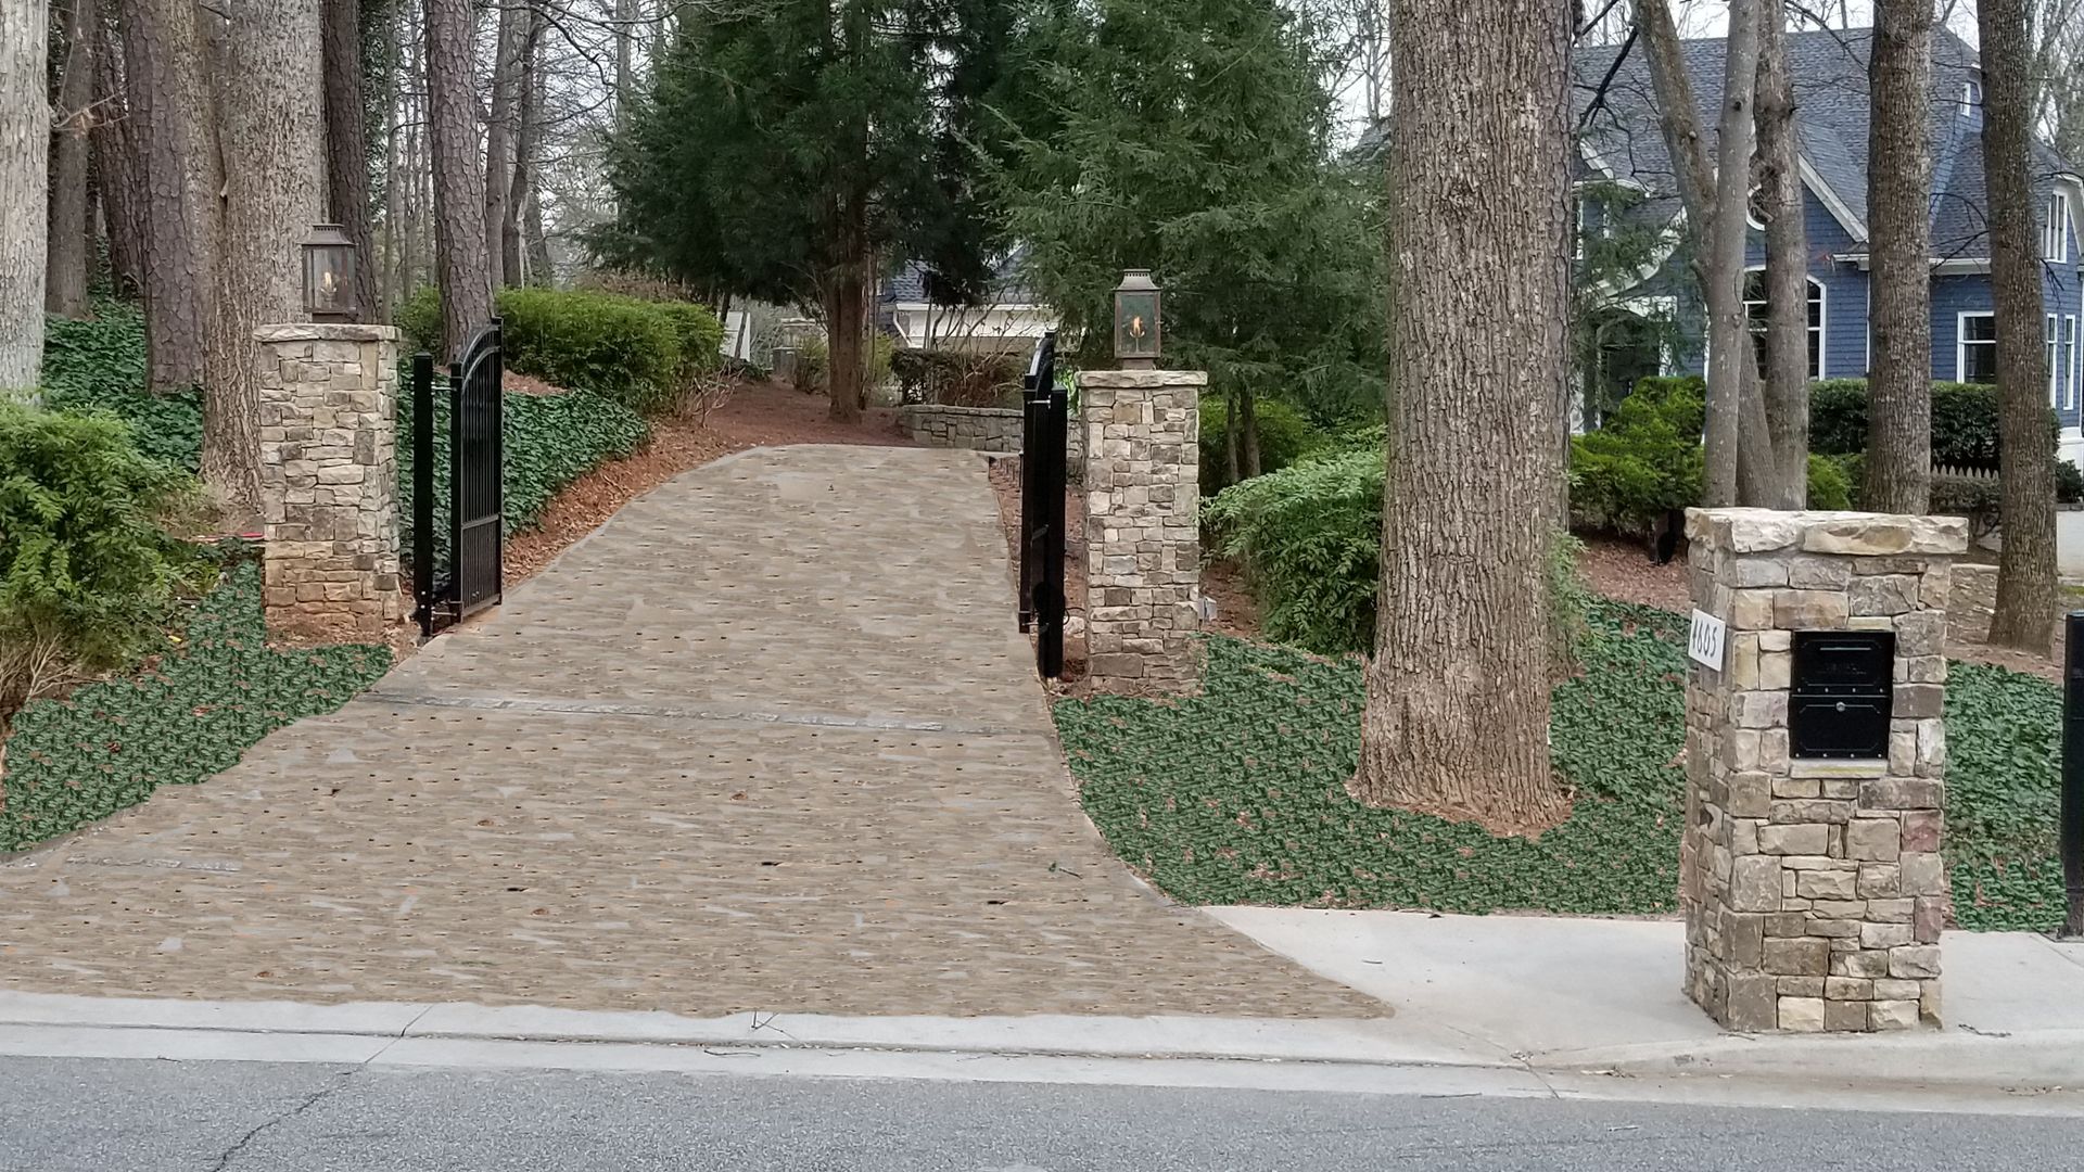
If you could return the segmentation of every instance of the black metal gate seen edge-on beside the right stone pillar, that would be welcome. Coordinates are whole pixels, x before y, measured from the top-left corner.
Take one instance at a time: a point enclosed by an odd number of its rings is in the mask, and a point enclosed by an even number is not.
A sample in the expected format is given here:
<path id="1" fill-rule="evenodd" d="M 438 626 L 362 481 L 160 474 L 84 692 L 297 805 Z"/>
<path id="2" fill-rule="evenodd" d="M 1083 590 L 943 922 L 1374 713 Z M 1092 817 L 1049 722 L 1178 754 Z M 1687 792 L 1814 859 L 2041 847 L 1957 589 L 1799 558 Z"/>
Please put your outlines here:
<path id="1" fill-rule="evenodd" d="M 1021 630 L 1036 636 L 1036 672 L 1063 676 L 1065 442 L 1071 396 L 1057 386 L 1057 334 L 1044 334 L 1023 380 Z"/>

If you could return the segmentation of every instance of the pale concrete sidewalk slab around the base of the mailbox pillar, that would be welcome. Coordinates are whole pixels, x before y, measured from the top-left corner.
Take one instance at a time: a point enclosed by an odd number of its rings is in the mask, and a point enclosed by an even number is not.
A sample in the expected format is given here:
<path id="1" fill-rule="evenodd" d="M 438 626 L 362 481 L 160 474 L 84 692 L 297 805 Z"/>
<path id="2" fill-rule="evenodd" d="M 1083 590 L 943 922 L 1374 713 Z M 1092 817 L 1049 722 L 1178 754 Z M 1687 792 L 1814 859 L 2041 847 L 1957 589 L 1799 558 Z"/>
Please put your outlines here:
<path id="1" fill-rule="evenodd" d="M 1394 1001 L 1400 1041 L 1469 1064 L 2084 1086 L 2084 943 L 1949 932 L 1944 1028 L 1748 1036 L 1723 1032 L 1680 993 L 1684 926 L 1671 920 L 1209 911 L 1313 972 Z"/>

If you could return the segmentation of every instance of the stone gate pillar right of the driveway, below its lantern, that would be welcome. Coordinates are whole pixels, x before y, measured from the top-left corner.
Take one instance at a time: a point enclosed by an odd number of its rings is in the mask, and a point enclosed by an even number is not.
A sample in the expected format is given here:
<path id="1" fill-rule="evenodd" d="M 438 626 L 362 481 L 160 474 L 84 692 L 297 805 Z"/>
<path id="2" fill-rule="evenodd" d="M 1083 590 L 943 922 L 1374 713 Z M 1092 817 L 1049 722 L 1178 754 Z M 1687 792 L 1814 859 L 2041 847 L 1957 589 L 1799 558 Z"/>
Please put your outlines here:
<path id="1" fill-rule="evenodd" d="M 1200 371 L 1082 371 L 1086 674 L 1107 688 L 1200 676 Z"/>

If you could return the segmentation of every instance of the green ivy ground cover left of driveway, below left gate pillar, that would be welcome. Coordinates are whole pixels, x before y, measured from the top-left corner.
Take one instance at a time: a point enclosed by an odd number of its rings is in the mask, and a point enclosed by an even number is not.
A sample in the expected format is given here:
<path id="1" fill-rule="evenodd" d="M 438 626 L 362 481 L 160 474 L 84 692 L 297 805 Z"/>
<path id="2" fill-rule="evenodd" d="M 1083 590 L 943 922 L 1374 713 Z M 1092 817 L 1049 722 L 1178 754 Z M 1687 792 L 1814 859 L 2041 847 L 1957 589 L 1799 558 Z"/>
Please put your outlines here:
<path id="1" fill-rule="evenodd" d="M 386 669 L 388 646 L 267 646 L 260 567 L 242 559 L 154 667 L 23 709 L 8 738 L 0 853 L 229 770 L 269 732 L 338 709 Z"/>

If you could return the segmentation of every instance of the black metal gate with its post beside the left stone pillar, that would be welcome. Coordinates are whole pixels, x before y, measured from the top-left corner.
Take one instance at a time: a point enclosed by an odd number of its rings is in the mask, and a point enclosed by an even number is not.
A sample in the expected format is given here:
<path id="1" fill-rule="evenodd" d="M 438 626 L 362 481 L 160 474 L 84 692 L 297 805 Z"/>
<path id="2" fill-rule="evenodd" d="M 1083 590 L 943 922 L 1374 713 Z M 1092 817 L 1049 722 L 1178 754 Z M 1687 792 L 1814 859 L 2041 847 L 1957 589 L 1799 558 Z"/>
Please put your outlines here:
<path id="1" fill-rule="evenodd" d="M 448 557 L 436 567 L 433 359 L 413 359 L 413 586 L 419 630 L 461 621 L 500 601 L 504 555 L 504 442 L 500 319 L 448 367 Z"/>

